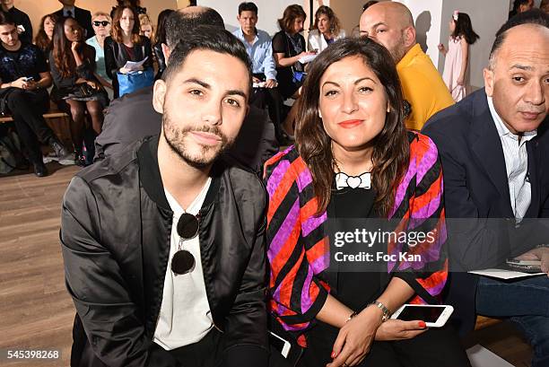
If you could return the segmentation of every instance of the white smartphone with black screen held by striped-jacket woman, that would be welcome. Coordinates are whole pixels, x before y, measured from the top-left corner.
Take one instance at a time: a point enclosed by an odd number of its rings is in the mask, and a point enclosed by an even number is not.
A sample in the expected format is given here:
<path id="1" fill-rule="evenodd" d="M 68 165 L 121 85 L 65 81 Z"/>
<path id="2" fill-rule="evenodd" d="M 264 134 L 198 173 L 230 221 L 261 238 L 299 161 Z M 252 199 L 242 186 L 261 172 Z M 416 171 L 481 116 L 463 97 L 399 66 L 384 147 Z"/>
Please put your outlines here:
<path id="1" fill-rule="evenodd" d="M 405 304 L 396 310 L 391 319 L 404 321 L 422 320 L 427 328 L 441 328 L 446 324 L 454 308 L 449 305 Z"/>

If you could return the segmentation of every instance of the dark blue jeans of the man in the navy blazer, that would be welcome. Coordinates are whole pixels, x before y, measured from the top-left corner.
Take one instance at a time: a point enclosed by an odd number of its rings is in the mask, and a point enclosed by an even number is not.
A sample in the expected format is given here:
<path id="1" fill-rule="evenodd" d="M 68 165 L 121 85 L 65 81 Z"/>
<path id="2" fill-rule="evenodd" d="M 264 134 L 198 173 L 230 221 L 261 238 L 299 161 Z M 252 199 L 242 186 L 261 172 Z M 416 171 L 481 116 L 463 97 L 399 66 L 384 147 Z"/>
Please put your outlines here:
<path id="1" fill-rule="evenodd" d="M 534 348 L 532 367 L 549 366 L 549 277 L 538 275 L 509 283 L 481 276 L 476 312 L 510 318 Z"/>

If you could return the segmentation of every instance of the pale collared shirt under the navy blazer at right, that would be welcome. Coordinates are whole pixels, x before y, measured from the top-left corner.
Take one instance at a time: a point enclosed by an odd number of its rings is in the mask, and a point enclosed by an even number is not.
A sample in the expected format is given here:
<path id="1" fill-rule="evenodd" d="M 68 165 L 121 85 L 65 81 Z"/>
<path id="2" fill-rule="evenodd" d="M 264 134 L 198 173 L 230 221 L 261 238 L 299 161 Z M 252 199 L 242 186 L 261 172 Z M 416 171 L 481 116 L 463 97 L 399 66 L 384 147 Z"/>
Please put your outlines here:
<path id="1" fill-rule="evenodd" d="M 527 178 L 527 142 L 537 135 L 537 130 L 525 132 L 521 136 L 514 135 L 505 126 L 493 107 L 492 97 L 487 98 L 488 107 L 500 135 L 501 147 L 503 148 L 505 169 L 507 170 L 507 179 L 509 180 L 510 204 L 517 222 L 520 222 L 527 213 L 532 201 L 532 188 L 530 180 Z"/>

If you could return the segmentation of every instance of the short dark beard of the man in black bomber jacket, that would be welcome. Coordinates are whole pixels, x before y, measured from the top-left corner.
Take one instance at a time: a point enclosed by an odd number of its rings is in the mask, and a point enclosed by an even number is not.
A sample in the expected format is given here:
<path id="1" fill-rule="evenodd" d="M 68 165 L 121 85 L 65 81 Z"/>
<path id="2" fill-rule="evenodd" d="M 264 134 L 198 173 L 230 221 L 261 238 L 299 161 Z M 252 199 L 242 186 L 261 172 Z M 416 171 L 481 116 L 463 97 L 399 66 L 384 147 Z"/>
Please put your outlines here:
<path id="1" fill-rule="evenodd" d="M 197 170 L 204 170 L 208 166 L 210 166 L 222 153 L 224 153 L 233 142 L 230 142 L 227 136 L 223 135 L 221 132 L 221 129 L 219 127 L 212 127 L 212 126 L 202 126 L 202 127 L 185 127 L 182 129 L 178 129 L 177 127 L 174 127 L 174 125 L 170 122 L 170 116 L 164 111 L 164 115 L 162 117 L 162 134 L 164 135 L 164 139 L 166 140 L 166 143 L 168 143 L 168 146 L 170 146 L 170 149 L 179 155 L 179 157 L 186 162 L 189 166 L 197 169 Z M 189 132 L 192 131 L 202 131 L 202 132 L 208 132 L 215 135 L 218 135 L 222 138 L 222 144 L 220 148 L 213 148 L 209 146 L 202 146 L 201 149 L 201 158 L 192 157 L 187 152 L 187 149 L 185 145 L 183 144 L 183 140 L 186 135 L 188 135 Z M 205 154 L 209 151 L 212 151 L 213 149 L 218 149 L 218 152 L 213 155 L 210 159 L 205 159 Z"/>

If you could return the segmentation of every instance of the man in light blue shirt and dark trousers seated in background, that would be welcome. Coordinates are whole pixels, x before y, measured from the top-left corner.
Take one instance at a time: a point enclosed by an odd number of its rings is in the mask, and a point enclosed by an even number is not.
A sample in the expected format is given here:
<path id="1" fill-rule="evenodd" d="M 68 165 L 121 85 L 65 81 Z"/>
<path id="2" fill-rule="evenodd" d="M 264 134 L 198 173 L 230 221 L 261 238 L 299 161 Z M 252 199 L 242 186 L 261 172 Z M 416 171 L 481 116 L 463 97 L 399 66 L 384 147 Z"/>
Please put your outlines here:
<path id="1" fill-rule="evenodd" d="M 252 61 L 254 83 L 264 83 L 262 87 L 254 88 L 250 104 L 259 109 L 269 110 L 269 117 L 274 123 L 277 140 L 283 144 L 281 124 L 283 123 L 283 100 L 276 87 L 276 70 L 273 57 L 273 44 L 266 31 L 257 30 L 257 5 L 251 2 L 239 5 L 237 20 L 240 29 L 233 31 L 242 41 Z"/>

